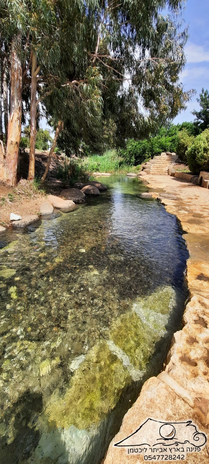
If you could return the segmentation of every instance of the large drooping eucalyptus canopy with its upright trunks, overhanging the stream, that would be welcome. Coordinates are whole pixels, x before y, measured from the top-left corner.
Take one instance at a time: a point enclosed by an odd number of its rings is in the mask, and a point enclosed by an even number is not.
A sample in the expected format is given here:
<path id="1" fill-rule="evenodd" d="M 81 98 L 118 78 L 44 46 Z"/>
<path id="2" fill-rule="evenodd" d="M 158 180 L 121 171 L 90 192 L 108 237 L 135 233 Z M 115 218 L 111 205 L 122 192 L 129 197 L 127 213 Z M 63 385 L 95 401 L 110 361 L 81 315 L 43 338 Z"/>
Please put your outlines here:
<path id="1" fill-rule="evenodd" d="M 7 183 L 16 182 L 21 118 L 27 112 L 28 177 L 33 179 L 42 115 L 54 129 L 59 124 L 59 144 L 70 150 L 81 142 L 96 146 L 110 120 L 120 146 L 127 137 L 156 131 L 186 108 L 191 91 L 184 92 L 179 82 L 187 40 L 181 23 L 184 4 L 185 0 L 0 0 L 3 75 L 10 76 L 13 114 L 20 121 L 15 132 L 10 111 Z"/>

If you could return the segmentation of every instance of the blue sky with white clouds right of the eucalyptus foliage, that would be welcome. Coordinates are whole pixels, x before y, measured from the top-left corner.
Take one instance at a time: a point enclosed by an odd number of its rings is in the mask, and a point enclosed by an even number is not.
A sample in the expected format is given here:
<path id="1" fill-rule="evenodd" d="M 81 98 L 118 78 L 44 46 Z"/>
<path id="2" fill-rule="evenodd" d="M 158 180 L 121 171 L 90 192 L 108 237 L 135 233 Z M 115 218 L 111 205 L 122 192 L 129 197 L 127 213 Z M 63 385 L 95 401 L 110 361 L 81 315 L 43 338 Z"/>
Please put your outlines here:
<path id="1" fill-rule="evenodd" d="M 196 96 L 188 103 L 187 110 L 174 122 L 193 121 L 191 111 L 199 109 L 196 98 L 204 89 L 209 90 L 209 0 L 187 0 L 183 11 L 185 25 L 189 25 L 189 39 L 185 46 L 186 66 L 180 76 L 185 90 L 196 89 Z"/>

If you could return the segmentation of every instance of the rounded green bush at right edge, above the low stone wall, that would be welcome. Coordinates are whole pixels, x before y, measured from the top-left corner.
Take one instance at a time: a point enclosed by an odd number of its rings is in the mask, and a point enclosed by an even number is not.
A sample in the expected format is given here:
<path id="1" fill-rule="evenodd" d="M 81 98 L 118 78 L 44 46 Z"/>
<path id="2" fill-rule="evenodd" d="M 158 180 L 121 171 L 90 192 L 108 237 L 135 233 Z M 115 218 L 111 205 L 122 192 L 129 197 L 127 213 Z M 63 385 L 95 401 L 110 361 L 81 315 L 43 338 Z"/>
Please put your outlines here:
<path id="1" fill-rule="evenodd" d="M 193 174 L 209 170 L 209 129 L 196 136 L 186 155 L 189 169 Z"/>

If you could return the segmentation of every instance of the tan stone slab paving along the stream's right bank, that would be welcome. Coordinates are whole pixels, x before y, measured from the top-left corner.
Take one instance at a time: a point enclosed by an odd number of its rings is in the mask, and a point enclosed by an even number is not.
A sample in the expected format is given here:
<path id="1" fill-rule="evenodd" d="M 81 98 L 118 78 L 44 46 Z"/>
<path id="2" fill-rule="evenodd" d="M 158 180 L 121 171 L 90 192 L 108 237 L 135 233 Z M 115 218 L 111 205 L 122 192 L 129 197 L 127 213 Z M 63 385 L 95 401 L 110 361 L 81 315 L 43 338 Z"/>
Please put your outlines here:
<path id="1" fill-rule="evenodd" d="M 143 455 L 128 456 L 127 449 L 114 444 L 135 432 L 147 418 L 192 420 L 209 443 L 209 190 L 168 175 L 145 175 L 144 180 L 152 196 L 180 219 L 186 232 L 190 301 L 183 315 L 184 327 L 173 336 L 164 371 L 145 382 L 109 446 L 105 464 L 144 462 Z M 201 451 L 186 453 L 183 461 L 209 463 L 207 443 Z"/>

